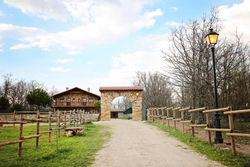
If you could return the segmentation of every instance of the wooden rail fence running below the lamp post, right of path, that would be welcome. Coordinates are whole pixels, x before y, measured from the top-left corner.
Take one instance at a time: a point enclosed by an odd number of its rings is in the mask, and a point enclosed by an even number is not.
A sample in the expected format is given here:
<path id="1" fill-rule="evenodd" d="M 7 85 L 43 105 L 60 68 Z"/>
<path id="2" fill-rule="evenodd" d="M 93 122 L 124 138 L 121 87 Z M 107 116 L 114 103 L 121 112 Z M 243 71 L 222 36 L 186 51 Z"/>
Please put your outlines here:
<path id="1" fill-rule="evenodd" d="M 166 112 L 165 112 L 166 111 Z M 180 117 L 177 117 L 177 112 L 180 113 Z M 194 114 L 197 112 L 201 112 L 206 117 L 206 124 L 196 123 Z M 223 128 L 212 128 L 211 124 L 211 113 L 223 112 L 222 114 L 228 115 L 228 123 L 229 127 L 226 129 Z M 174 107 L 159 107 L 159 108 L 148 108 L 147 109 L 147 119 L 162 123 L 170 126 L 170 120 L 173 121 L 173 128 L 176 129 L 176 123 L 180 122 L 182 124 L 182 132 L 184 132 L 184 124 L 189 124 L 191 128 L 191 133 L 195 136 L 195 127 L 204 127 L 204 130 L 208 132 L 208 143 L 212 144 L 211 140 L 211 132 L 227 132 L 226 135 L 231 138 L 231 147 L 232 154 L 236 155 L 236 147 L 235 147 L 235 137 L 250 137 L 250 134 L 246 133 L 234 133 L 234 120 L 233 115 L 235 114 L 246 114 L 250 113 L 250 109 L 246 110 L 235 110 L 232 111 L 232 107 L 218 108 L 218 109 L 210 109 L 208 110 L 206 107 L 191 109 L 191 107 L 185 108 L 174 108 Z M 185 119 L 190 116 L 190 119 Z M 167 123 L 166 123 L 167 121 Z"/>

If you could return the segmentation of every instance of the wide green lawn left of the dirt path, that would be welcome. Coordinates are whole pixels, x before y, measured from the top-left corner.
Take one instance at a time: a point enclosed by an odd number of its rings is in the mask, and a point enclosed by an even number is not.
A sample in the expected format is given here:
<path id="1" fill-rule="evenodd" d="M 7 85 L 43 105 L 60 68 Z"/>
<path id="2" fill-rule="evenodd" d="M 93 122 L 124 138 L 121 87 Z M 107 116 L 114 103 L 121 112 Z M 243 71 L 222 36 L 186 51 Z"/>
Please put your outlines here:
<path id="1" fill-rule="evenodd" d="M 22 157 L 17 158 L 18 144 L 3 146 L 0 149 L 0 167 L 21 166 L 90 166 L 95 153 L 103 147 L 109 138 L 107 127 L 94 124 L 82 125 L 85 136 L 66 137 L 61 131 L 56 148 L 56 132 L 52 133 L 52 142 L 48 143 L 48 134 L 40 137 L 39 148 L 35 147 L 35 140 L 23 143 Z M 48 130 L 48 126 L 41 126 L 41 131 Z M 24 127 L 23 136 L 35 134 L 36 126 Z M 0 142 L 18 139 L 18 127 L 0 127 Z"/>

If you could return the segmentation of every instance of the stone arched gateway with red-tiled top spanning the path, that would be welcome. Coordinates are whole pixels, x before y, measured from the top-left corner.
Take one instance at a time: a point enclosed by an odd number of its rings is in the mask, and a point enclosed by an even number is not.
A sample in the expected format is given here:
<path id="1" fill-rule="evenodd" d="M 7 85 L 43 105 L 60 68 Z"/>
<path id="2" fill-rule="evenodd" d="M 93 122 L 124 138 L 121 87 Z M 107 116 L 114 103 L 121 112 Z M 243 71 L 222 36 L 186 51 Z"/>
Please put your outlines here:
<path id="1" fill-rule="evenodd" d="M 142 91 L 143 87 L 100 87 L 101 92 L 101 120 L 110 120 L 110 106 L 119 96 L 128 98 L 132 103 L 132 119 L 142 120 Z"/>

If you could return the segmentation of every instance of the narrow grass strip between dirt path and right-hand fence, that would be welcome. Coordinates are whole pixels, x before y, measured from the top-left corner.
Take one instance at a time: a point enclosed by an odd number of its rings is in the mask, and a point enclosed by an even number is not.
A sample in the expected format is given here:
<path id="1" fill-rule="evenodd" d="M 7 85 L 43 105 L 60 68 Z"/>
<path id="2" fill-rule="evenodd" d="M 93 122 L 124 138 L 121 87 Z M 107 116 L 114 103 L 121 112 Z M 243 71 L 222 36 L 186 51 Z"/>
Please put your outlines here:
<path id="1" fill-rule="evenodd" d="M 162 131 L 167 132 L 170 136 L 176 137 L 181 142 L 191 146 L 196 152 L 206 155 L 209 159 L 218 161 L 224 165 L 232 167 L 249 167 L 250 157 L 237 153 L 233 156 L 231 150 L 221 150 L 217 147 L 210 146 L 207 141 L 193 137 L 191 134 L 182 133 L 166 125 L 158 124 L 152 121 L 146 121 L 148 124 L 159 127 Z"/>

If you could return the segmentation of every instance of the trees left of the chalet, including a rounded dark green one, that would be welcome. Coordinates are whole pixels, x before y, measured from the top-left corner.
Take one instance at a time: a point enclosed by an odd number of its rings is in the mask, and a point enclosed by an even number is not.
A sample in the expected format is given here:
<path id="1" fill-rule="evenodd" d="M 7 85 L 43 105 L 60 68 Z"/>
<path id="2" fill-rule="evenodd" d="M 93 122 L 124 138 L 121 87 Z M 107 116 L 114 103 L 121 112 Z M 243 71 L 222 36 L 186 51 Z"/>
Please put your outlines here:
<path id="1" fill-rule="evenodd" d="M 17 80 L 11 74 L 0 80 L 0 112 L 36 110 L 52 103 L 44 86 L 37 81 Z"/>

